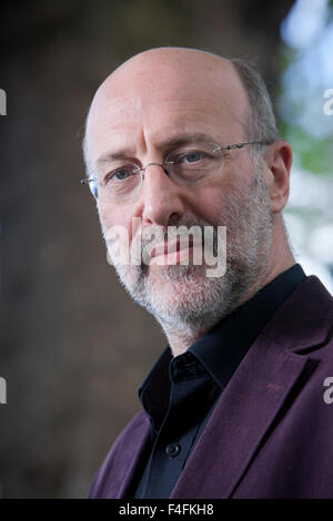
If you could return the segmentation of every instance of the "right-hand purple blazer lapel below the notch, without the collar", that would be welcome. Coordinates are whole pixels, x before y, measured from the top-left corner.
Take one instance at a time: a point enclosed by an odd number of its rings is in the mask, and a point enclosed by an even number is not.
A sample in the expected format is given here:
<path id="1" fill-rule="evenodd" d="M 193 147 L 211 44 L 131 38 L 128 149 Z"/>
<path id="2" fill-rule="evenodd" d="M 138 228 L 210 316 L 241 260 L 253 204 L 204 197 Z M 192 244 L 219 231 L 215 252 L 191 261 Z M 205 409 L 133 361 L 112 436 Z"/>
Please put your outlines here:
<path id="1" fill-rule="evenodd" d="M 222 392 L 171 498 L 230 498 L 307 357 L 261 335 Z"/>

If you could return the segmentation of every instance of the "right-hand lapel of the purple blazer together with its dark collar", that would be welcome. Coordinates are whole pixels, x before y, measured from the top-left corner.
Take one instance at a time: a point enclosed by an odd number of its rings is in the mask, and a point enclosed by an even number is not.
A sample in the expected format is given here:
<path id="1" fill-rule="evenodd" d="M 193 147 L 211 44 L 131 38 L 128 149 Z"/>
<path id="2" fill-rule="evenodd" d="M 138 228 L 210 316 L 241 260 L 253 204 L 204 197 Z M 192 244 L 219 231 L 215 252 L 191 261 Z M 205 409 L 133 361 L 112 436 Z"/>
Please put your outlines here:
<path id="1" fill-rule="evenodd" d="M 310 276 L 278 309 L 223 390 L 171 498 L 230 498 L 278 421 L 303 372 L 315 369 L 305 355 L 325 341 L 332 296 Z M 303 351 L 303 355 L 300 353 Z M 294 394 L 291 395 L 291 390 Z"/>

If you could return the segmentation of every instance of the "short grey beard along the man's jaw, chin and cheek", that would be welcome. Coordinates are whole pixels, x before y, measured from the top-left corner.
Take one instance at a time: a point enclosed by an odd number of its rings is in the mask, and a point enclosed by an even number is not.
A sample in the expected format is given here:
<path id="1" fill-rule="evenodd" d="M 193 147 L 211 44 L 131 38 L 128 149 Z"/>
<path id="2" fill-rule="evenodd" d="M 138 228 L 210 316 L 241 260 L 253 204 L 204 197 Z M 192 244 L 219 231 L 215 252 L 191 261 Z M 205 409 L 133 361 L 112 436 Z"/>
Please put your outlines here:
<path id="1" fill-rule="evenodd" d="M 169 225 L 196 225 L 202 228 L 212 223 L 186 222 L 182 218 Z M 263 284 L 269 267 L 273 218 L 270 195 L 261 170 L 253 176 L 246 201 L 234 191 L 224 201 L 216 226 L 226 226 L 226 272 L 221 277 L 208 277 L 208 266 L 159 266 L 151 273 L 145 264 L 117 263 L 112 249 L 109 256 L 120 283 L 131 297 L 168 331 L 199 337 L 219 320 L 230 315 Z M 216 255 L 214 243 L 214 255 Z"/>

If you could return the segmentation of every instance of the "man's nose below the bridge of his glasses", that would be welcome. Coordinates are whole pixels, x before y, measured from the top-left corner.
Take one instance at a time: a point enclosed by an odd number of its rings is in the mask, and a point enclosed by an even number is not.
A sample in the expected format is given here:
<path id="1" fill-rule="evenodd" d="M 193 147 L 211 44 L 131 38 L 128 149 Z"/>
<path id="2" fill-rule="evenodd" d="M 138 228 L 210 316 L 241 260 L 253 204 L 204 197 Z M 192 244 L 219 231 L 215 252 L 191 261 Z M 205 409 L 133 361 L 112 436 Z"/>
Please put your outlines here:
<path id="1" fill-rule="evenodd" d="M 143 172 L 142 221 L 145 224 L 168 226 L 184 213 L 182 190 L 169 177 L 160 163 L 150 163 Z"/>

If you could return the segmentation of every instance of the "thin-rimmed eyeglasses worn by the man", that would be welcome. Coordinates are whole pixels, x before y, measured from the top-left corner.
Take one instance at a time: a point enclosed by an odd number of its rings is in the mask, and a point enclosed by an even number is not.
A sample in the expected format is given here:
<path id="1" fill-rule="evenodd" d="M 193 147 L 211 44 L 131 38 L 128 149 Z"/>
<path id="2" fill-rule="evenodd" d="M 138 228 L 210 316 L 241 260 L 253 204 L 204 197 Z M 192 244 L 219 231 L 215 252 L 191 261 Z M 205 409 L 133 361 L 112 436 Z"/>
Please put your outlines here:
<path id="1" fill-rule="evenodd" d="M 225 152 L 254 144 L 268 145 L 271 142 L 248 141 L 226 146 L 206 142 L 192 143 L 174 150 L 165 157 L 164 163 L 149 163 L 142 168 L 132 162 L 114 160 L 110 163 L 110 172 L 103 178 L 91 176 L 81 180 L 81 184 L 89 185 L 100 204 L 124 203 L 138 196 L 149 166 L 161 166 L 176 185 L 191 186 L 219 175 L 224 165 Z"/>

